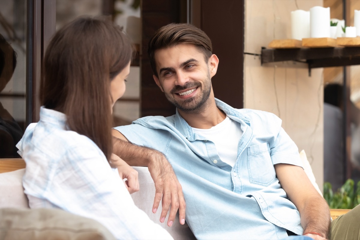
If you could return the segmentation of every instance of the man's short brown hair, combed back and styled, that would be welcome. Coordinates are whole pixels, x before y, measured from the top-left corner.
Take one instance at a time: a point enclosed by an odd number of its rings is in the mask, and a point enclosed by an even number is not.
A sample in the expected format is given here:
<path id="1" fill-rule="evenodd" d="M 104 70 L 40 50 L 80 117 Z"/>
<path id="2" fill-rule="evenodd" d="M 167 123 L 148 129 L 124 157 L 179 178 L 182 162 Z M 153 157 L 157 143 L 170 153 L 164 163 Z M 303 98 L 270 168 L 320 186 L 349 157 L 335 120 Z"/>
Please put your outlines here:
<path id="1" fill-rule="evenodd" d="M 212 44 L 210 38 L 204 31 L 188 23 L 170 23 L 159 28 L 150 39 L 148 54 L 151 68 L 158 77 L 156 71 L 155 51 L 173 47 L 177 44 L 193 44 L 204 54 L 207 62 L 212 55 Z"/>

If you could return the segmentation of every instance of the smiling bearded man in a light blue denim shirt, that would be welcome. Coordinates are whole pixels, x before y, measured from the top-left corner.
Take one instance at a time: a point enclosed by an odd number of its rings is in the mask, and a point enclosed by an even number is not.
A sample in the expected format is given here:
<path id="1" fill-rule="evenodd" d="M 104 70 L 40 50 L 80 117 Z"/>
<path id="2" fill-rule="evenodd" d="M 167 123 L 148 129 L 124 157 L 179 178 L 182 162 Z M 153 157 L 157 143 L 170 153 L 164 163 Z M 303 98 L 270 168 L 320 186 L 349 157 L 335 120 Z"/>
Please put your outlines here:
<path id="1" fill-rule="evenodd" d="M 328 205 L 281 120 L 214 98 L 219 59 L 208 36 L 190 24 L 169 24 L 155 33 L 148 53 L 154 80 L 176 114 L 114 128 L 114 153 L 149 167 L 157 189 L 153 212 L 163 195 L 160 221 L 171 203 L 168 225 L 178 208 L 184 223 L 183 188 L 186 221 L 197 239 L 326 239 Z"/>

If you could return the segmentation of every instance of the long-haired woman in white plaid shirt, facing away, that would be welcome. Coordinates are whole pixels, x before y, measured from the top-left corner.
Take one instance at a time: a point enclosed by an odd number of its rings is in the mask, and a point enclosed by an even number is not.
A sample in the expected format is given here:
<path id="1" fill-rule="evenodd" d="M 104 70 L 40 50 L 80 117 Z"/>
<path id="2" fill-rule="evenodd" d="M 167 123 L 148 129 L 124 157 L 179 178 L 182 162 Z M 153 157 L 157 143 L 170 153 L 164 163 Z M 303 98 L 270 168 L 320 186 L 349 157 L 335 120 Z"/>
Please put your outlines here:
<path id="1" fill-rule="evenodd" d="M 131 55 L 126 35 L 101 19 L 79 18 L 55 33 L 44 58 L 40 121 L 17 145 L 23 186 L 31 208 L 93 218 L 117 239 L 171 239 L 134 205 L 127 187 L 138 190 L 137 173 L 112 155 L 112 106 L 125 91 Z"/>

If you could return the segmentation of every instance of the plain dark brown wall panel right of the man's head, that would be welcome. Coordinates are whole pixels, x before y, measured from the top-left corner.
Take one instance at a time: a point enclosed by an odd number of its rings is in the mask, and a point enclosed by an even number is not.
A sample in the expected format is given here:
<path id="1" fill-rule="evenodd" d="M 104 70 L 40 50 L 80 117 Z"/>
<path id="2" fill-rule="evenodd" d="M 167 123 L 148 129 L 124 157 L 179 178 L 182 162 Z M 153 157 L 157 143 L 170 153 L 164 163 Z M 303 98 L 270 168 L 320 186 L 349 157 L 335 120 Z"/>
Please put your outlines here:
<path id="1" fill-rule="evenodd" d="M 202 0 L 201 29 L 220 60 L 212 78 L 215 97 L 243 108 L 244 1 Z"/>

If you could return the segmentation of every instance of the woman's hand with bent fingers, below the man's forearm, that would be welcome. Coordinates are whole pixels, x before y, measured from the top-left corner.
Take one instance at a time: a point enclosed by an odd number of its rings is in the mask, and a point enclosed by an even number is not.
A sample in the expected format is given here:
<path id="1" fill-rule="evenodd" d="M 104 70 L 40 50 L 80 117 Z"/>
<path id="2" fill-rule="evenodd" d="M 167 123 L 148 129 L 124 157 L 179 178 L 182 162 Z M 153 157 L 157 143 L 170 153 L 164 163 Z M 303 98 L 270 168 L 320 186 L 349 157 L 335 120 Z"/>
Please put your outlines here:
<path id="1" fill-rule="evenodd" d="M 127 179 L 124 184 L 129 193 L 132 194 L 139 191 L 139 173 L 134 168 L 130 167 L 129 164 L 127 164 L 119 156 L 113 153 L 111 154 L 111 163 L 117 167 L 117 171 L 119 172 L 121 179 Z"/>

